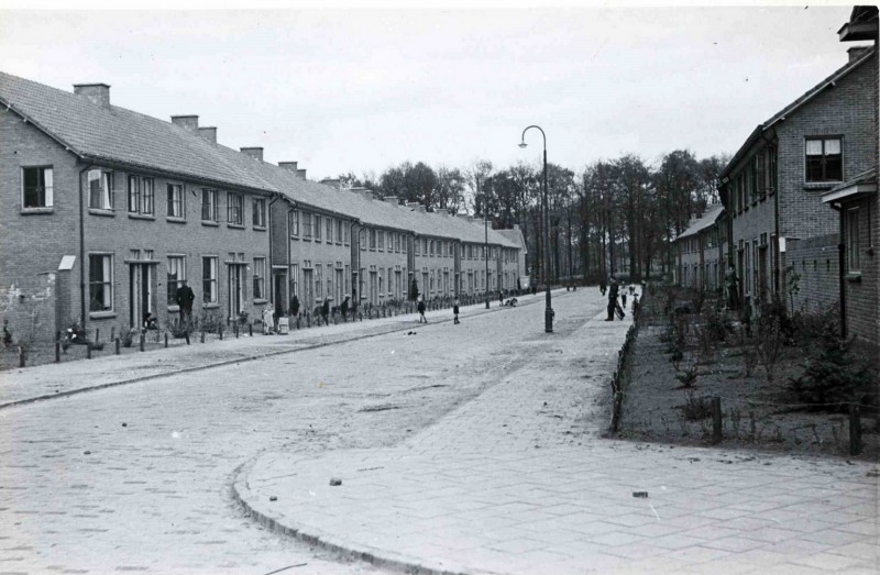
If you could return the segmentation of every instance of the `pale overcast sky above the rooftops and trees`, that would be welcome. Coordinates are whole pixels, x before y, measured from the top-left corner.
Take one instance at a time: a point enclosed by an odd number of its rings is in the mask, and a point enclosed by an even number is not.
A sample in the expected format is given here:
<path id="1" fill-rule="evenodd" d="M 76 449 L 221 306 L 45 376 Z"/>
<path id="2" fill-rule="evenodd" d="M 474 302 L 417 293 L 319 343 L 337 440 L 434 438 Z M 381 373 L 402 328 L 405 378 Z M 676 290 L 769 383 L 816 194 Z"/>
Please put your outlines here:
<path id="1" fill-rule="evenodd" d="M 851 7 L 4 11 L 0 69 L 263 146 L 309 179 L 404 161 L 574 170 L 733 153 L 843 66 Z"/>

